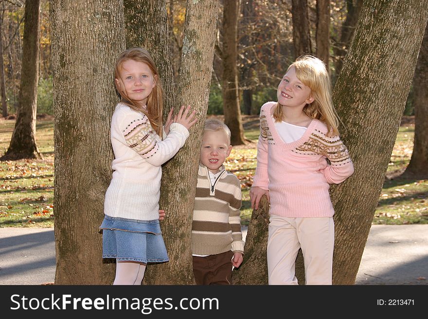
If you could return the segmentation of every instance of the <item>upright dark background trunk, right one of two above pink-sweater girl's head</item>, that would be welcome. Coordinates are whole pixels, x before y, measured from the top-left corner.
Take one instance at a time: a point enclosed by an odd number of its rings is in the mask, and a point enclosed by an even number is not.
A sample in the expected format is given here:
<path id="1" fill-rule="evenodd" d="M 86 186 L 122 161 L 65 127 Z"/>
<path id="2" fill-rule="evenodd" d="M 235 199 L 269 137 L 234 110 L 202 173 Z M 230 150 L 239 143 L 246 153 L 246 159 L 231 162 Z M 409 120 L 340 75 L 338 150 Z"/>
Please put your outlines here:
<path id="1" fill-rule="evenodd" d="M 330 72 L 330 0 L 317 0 L 317 55 Z"/>

